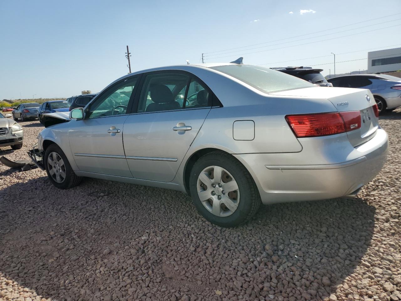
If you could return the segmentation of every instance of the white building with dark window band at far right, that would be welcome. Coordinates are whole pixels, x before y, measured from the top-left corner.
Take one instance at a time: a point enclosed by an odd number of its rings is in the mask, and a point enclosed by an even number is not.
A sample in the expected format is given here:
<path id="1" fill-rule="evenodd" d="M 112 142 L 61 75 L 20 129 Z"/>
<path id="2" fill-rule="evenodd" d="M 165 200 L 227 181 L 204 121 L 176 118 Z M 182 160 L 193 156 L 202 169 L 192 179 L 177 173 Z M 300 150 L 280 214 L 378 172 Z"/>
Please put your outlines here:
<path id="1" fill-rule="evenodd" d="M 401 48 L 368 52 L 368 73 L 392 72 L 401 69 Z"/>

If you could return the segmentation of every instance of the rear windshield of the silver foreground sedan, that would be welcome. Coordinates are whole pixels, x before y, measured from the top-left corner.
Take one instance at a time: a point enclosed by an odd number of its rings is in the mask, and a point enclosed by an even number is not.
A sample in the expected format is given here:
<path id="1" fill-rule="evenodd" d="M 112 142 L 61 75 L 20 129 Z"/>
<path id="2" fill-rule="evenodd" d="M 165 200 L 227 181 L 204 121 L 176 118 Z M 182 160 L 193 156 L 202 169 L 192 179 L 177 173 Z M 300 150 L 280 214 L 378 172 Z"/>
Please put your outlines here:
<path id="1" fill-rule="evenodd" d="M 235 77 L 264 93 L 314 87 L 312 83 L 292 75 L 254 65 L 225 65 L 211 67 L 211 69 Z"/>

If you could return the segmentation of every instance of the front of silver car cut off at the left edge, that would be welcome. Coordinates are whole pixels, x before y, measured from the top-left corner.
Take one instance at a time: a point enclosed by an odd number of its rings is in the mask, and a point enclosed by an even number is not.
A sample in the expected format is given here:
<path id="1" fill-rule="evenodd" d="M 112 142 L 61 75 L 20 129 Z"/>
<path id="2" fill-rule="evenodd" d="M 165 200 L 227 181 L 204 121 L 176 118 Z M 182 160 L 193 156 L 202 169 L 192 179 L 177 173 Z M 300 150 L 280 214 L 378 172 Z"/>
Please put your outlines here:
<path id="1" fill-rule="evenodd" d="M 24 131 L 21 126 L 0 113 L 0 147 L 11 146 L 12 149 L 20 149 L 23 141 Z"/>

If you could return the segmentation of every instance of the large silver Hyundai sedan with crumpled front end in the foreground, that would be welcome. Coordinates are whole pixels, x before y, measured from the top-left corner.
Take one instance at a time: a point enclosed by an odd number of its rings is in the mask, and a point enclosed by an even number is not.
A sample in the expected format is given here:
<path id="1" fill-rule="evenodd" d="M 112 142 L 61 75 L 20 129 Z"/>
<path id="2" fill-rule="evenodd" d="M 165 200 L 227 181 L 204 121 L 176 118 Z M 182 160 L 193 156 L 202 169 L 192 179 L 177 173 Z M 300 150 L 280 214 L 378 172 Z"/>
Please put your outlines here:
<path id="1" fill-rule="evenodd" d="M 261 203 L 355 195 L 388 144 L 369 90 L 235 63 L 139 71 L 71 120 L 53 114 L 31 153 L 56 187 L 85 176 L 176 189 L 220 226 L 246 222 Z"/>

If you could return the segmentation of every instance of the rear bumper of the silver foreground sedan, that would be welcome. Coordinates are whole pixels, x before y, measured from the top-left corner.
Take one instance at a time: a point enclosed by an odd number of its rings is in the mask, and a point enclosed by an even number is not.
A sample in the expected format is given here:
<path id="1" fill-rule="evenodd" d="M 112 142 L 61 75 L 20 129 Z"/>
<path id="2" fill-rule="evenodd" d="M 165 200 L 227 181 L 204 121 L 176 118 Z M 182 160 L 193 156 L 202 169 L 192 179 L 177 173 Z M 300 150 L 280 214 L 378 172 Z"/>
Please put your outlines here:
<path id="1" fill-rule="evenodd" d="M 312 201 L 352 195 L 382 169 L 388 137 L 375 137 L 354 148 L 360 156 L 334 164 L 267 165 L 270 154 L 235 155 L 250 171 L 264 204 Z M 355 153 L 352 153 L 355 155 Z"/>

